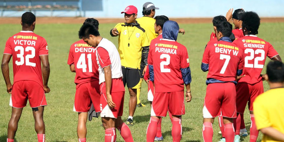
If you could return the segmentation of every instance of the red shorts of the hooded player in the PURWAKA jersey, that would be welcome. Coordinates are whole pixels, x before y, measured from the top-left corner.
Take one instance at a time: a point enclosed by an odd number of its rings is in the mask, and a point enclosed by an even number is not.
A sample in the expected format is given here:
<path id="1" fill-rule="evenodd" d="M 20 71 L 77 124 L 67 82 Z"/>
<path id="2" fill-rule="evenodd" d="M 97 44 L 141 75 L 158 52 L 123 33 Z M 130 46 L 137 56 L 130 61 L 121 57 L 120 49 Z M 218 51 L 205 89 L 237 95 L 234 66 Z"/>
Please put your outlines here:
<path id="1" fill-rule="evenodd" d="M 151 116 L 166 117 L 168 109 L 172 115 L 185 114 L 183 90 L 167 93 L 155 92 L 151 108 Z"/>

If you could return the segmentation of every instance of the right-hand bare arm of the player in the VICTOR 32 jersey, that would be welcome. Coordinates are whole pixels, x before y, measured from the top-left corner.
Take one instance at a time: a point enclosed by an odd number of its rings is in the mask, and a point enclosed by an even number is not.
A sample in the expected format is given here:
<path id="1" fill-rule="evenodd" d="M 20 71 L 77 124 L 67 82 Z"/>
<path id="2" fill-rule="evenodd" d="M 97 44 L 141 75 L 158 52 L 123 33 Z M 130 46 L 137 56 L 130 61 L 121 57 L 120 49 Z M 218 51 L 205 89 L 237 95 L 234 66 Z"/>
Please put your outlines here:
<path id="1" fill-rule="evenodd" d="M 50 74 L 50 68 L 49 68 L 49 61 L 48 61 L 48 55 L 42 55 L 39 56 L 41 63 L 42 63 L 42 78 L 43 78 L 43 89 L 45 93 L 49 93 L 50 89 L 47 86 L 49 74 Z"/>

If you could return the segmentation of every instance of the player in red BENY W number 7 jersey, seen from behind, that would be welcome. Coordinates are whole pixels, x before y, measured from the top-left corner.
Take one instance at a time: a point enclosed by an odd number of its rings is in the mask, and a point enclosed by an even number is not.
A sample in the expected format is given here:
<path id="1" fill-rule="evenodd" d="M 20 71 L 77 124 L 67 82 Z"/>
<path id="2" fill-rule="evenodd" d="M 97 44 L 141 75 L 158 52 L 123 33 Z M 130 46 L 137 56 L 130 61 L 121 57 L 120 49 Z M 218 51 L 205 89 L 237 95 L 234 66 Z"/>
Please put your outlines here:
<path id="1" fill-rule="evenodd" d="M 203 139 L 212 142 L 214 118 L 222 113 L 226 141 L 234 141 L 233 118 L 236 114 L 236 76 L 244 67 L 243 51 L 232 44 L 229 36 L 232 25 L 221 22 L 216 26 L 218 42 L 211 42 L 205 48 L 202 58 L 202 71 L 208 72 L 206 96 L 203 107 Z"/>

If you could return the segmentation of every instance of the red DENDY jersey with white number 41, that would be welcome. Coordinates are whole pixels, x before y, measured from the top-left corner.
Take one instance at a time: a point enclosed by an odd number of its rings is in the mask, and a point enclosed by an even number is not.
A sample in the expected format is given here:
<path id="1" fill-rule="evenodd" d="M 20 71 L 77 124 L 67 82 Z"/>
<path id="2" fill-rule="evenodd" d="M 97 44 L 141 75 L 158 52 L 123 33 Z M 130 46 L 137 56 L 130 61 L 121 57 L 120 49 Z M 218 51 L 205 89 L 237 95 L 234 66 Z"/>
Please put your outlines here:
<path id="1" fill-rule="evenodd" d="M 75 65 L 75 84 L 78 87 L 82 83 L 98 81 L 99 71 L 96 61 L 96 50 L 84 40 L 79 40 L 70 46 L 68 65 Z"/>

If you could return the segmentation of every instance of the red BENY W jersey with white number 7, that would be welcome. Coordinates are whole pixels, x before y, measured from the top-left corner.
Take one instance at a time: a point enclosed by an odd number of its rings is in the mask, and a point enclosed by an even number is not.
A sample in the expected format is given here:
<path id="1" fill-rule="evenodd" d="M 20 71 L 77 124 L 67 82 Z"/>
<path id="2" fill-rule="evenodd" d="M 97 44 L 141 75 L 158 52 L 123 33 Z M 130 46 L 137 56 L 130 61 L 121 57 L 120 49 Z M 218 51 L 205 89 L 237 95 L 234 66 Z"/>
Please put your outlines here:
<path id="1" fill-rule="evenodd" d="M 209 64 L 207 79 L 236 80 L 237 70 L 244 67 L 243 51 L 226 41 L 211 42 L 205 48 L 202 63 Z"/>

